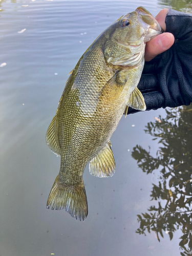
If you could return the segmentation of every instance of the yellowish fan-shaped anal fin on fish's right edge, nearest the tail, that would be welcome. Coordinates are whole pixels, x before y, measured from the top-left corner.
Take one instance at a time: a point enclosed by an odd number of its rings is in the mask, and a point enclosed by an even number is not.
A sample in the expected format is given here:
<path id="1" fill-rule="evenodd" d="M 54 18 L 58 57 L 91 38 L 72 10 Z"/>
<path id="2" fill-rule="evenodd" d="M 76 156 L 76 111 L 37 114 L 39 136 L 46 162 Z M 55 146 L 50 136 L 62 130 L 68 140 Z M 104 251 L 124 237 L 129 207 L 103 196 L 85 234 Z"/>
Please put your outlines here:
<path id="1" fill-rule="evenodd" d="M 108 142 L 104 150 L 90 161 L 89 172 L 99 178 L 112 177 L 114 175 L 115 159 L 111 149 L 111 141 Z"/>

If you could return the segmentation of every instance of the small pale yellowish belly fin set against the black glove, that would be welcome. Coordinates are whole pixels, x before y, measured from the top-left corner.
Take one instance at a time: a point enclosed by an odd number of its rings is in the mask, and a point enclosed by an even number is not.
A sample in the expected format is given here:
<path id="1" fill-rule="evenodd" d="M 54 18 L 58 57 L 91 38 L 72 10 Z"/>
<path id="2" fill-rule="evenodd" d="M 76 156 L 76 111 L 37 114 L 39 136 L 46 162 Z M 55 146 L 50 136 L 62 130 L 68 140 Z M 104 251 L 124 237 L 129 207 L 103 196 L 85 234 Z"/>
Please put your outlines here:
<path id="1" fill-rule="evenodd" d="M 146 110 L 145 101 L 143 98 L 143 95 L 139 91 L 139 89 L 136 87 L 136 89 L 132 92 L 130 98 L 126 102 L 127 106 L 131 106 L 131 108 L 136 110 Z"/>

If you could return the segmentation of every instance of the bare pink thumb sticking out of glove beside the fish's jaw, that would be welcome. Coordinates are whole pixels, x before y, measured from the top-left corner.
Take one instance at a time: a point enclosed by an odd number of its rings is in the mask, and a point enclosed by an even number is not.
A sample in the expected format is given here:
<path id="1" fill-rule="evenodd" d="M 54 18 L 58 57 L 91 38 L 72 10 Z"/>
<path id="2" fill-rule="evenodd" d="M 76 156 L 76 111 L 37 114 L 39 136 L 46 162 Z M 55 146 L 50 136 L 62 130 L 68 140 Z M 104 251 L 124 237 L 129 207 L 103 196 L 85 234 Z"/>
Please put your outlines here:
<path id="1" fill-rule="evenodd" d="M 145 49 L 145 61 L 150 61 L 158 54 L 165 52 L 174 44 L 172 33 L 163 33 L 148 41 Z"/>

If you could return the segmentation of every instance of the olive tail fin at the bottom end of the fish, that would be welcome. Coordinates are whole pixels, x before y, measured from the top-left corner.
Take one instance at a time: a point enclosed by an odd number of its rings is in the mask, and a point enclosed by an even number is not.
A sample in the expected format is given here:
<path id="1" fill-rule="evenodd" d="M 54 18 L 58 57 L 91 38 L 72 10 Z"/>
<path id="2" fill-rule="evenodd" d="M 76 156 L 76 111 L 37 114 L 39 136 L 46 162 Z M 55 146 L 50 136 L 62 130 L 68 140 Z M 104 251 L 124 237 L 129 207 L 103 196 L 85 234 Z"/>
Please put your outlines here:
<path id="1" fill-rule="evenodd" d="M 65 209 L 76 220 L 84 221 L 88 216 L 88 202 L 83 180 L 79 185 L 66 186 L 57 176 L 48 197 L 47 208 Z"/>

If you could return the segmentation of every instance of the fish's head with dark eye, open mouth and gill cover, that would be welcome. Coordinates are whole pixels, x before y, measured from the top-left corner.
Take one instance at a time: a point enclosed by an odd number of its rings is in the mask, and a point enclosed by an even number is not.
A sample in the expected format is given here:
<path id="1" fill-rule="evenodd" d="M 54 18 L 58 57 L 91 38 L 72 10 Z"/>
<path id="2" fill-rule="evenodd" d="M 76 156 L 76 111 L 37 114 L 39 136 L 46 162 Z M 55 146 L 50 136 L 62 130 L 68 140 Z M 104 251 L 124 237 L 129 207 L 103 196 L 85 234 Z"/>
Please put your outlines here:
<path id="1" fill-rule="evenodd" d="M 146 42 L 162 32 L 153 15 L 144 7 L 138 7 L 112 24 L 104 57 L 111 66 L 137 66 L 144 58 Z"/>

